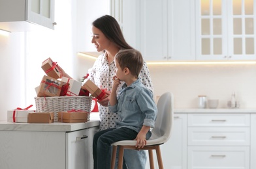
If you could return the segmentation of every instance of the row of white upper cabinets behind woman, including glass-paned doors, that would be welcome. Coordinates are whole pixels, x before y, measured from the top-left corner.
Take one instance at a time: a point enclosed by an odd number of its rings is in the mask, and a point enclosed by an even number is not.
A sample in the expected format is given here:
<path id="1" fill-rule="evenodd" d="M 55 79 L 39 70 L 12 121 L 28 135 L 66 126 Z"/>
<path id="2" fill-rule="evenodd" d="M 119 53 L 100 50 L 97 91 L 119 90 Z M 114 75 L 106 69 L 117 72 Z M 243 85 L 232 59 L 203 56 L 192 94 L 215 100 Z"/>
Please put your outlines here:
<path id="1" fill-rule="evenodd" d="M 256 60 L 254 0 L 110 0 L 146 61 Z"/>

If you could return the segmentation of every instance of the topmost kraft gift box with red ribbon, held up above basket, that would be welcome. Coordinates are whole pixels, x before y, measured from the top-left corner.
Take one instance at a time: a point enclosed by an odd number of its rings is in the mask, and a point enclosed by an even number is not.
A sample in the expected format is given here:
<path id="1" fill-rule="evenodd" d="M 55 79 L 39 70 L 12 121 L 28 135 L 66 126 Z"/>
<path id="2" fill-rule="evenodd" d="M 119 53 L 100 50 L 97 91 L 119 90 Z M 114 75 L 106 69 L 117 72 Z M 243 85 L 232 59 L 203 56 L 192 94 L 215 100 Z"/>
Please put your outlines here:
<path id="1" fill-rule="evenodd" d="M 61 70 L 59 70 L 57 62 L 53 62 L 50 57 L 42 62 L 41 68 L 44 70 L 46 75 L 55 79 L 61 78 Z"/>

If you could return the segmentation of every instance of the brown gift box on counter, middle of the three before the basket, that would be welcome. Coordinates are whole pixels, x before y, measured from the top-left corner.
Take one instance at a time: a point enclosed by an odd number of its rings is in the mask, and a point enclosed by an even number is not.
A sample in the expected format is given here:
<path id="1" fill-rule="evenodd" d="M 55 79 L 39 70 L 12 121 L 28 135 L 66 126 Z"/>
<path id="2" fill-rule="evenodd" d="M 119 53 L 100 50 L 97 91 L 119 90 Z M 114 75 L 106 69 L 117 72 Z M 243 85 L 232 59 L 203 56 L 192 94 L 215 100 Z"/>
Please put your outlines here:
<path id="1" fill-rule="evenodd" d="M 53 123 L 54 112 L 35 112 L 27 115 L 27 123 Z"/>

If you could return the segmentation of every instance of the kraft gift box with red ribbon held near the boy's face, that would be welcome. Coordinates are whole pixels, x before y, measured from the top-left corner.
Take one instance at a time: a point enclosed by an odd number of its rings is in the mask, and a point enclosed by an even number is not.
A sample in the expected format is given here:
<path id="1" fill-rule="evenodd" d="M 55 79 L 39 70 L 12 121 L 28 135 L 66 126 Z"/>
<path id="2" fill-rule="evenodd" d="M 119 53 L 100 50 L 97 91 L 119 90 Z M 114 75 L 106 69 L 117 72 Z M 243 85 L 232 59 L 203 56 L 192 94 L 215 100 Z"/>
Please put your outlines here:
<path id="1" fill-rule="evenodd" d="M 105 92 L 89 79 L 84 80 L 84 86 L 82 86 L 82 89 L 88 90 L 89 93 L 97 99 L 104 99 L 107 97 Z"/>

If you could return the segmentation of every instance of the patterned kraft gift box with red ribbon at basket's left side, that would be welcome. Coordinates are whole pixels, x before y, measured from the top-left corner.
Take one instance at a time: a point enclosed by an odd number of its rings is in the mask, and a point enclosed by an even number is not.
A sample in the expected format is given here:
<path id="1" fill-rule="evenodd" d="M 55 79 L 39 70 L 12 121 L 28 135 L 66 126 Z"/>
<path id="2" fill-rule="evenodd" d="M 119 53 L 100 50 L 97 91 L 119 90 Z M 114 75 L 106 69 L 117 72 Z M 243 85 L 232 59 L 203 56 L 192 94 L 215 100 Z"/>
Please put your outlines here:
<path id="1" fill-rule="evenodd" d="M 35 88 L 38 97 L 59 96 L 61 93 L 62 81 L 44 75 L 39 88 Z"/>

